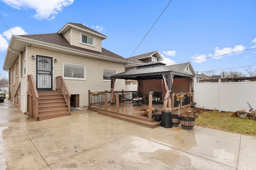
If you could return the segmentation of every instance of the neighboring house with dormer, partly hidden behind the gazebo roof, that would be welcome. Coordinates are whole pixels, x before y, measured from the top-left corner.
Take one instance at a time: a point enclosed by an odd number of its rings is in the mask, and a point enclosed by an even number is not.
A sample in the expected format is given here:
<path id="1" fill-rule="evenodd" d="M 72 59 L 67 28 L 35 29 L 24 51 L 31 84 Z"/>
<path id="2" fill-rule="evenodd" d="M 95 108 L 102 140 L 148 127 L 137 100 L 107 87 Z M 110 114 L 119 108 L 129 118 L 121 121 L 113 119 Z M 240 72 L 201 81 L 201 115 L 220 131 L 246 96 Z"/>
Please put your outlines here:
<path id="1" fill-rule="evenodd" d="M 158 51 L 153 51 L 153 52 L 145 53 L 142 55 L 136 55 L 134 57 L 129 57 L 127 59 L 132 63 L 126 64 L 125 66 L 126 71 L 132 68 L 136 68 L 136 66 L 138 66 L 139 64 L 164 60 Z M 138 84 L 138 82 L 136 80 L 126 80 L 125 84 Z"/>

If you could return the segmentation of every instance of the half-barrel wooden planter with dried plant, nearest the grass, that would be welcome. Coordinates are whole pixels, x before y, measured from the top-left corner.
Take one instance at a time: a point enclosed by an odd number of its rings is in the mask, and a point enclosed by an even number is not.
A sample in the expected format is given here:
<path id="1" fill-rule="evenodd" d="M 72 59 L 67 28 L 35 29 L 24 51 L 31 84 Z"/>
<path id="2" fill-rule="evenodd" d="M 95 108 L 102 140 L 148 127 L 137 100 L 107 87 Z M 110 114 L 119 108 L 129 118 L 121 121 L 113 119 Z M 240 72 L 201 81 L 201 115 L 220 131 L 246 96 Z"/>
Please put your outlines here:
<path id="1" fill-rule="evenodd" d="M 192 130 L 194 129 L 195 121 L 198 116 L 196 115 L 196 111 L 188 111 L 184 110 L 180 114 L 180 125 L 182 129 Z"/>

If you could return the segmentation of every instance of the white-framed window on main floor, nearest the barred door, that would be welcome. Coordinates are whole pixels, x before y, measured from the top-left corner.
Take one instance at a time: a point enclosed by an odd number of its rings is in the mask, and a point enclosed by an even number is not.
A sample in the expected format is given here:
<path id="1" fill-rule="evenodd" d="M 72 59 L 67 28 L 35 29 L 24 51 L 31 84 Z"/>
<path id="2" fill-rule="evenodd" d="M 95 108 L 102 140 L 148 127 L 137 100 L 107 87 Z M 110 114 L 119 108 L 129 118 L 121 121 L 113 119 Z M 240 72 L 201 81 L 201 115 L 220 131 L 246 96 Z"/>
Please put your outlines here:
<path id="1" fill-rule="evenodd" d="M 86 80 L 86 66 L 63 63 L 63 77 L 66 79 Z"/>

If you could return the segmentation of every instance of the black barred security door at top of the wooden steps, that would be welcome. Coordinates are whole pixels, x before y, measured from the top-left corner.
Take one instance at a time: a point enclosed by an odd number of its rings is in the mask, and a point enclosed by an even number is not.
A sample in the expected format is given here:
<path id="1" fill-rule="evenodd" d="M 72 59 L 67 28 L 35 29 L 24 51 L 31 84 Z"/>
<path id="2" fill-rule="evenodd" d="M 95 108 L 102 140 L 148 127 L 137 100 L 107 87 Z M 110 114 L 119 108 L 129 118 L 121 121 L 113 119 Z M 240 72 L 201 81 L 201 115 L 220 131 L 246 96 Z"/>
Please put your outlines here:
<path id="1" fill-rule="evenodd" d="M 52 57 L 36 55 L 36 89 L 52 90 Z"/>

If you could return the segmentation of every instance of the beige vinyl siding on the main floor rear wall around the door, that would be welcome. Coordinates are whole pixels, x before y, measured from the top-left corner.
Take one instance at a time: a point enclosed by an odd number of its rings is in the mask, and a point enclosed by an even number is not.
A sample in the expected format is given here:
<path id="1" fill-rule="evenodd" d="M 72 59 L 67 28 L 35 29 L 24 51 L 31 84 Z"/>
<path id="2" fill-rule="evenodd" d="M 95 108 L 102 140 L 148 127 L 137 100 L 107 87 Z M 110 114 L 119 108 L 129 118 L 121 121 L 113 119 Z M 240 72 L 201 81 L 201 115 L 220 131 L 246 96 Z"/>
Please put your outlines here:
<path id="1" fill-rule="evenodd" d="M 36 47 L 28 48 L 28 74 L 35 76 L 35 60 L 32 60 L 32 55 L 44 55 L 57 59 L 57 63 L 53 62 L 53 77 L 54 77 L 54 90 L 56 89 L 56 77 L 63 76 L 63 63 L 78 64 L 86 66 L 86 80 L 70 80 L 64 79 L 70 94 L 79 94 L 80 107 L 88 106 L 88 90 L 92 92 L 101 92 L 104 90 L 110 91 L 110 82 L 102 80 L 102 69 L 117 70 L 117 73 L 124 72 L 124 64 L 114 63 L 109 61 L 101 61 L 98 59 L 92 59 L 88 57 L 81 57 L 70 55 L 66 53 L 60 53 L 56 51 L 45 50 Z M 36 80 L 35 80 L 36 81 Z M 118 79 L 115 82 L 114 90 L 124 90 L 125 81 Z"/>

